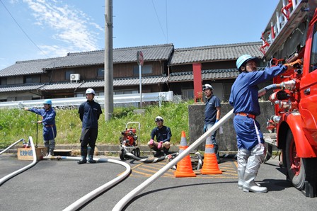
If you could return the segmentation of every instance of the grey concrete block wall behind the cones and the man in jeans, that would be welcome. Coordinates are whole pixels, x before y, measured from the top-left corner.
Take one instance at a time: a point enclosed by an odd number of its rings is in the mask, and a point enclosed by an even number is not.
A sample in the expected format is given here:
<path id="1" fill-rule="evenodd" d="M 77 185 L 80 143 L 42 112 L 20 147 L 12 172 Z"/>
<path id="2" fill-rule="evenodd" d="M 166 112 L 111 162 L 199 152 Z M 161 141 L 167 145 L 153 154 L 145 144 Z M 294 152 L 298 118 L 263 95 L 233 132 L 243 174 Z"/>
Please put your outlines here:
<path id="1" fill-rule="evenodd" d="M 260 129 L 263 133 L 267 132 L 266 122 L 271 115 L 274 115 L 274 106 L 271 105 L 270 101 L 260 102 L 261 114 L 257 117 L 260 122 Z M 221 103 L 221 117 L 226 115 L 232 106 L 229 103 Z M 204 103 L 195 103 L 188 106 L 188 125 L 189 127 L 189 142 L 192 144 L 202 134 L 204 129 Z M 219 151 L 237 151 L 236 147 L 236 132 L 234 131 L 233 119 L 228 120 L 222 126 L 224 134 L 219 135 L 217 131 L 217 142 L 219 144 Z M 204 151 L 204 142 L 197 148 L 198 150 Z"/>

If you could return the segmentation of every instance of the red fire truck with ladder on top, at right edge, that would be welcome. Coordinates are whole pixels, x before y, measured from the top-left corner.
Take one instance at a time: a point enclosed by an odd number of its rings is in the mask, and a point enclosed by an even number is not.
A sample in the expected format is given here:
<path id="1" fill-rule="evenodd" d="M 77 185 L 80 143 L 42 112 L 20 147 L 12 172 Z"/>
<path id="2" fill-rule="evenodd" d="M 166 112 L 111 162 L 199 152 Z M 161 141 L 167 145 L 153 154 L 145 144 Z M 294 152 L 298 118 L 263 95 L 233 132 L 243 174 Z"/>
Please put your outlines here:
<path id="1" fill-rule="evenodd" d="M 263 59 L 270 65 L 302 59 L 302 67 L 273 79 L 275 114 L 265 134 L 268 156 L 282 150 L 287 179 L 307 197 L 317 196 L 317 1 L 280 0 L 262 33 Z M 269 158 L 268 157 L 268 158 Z"/>

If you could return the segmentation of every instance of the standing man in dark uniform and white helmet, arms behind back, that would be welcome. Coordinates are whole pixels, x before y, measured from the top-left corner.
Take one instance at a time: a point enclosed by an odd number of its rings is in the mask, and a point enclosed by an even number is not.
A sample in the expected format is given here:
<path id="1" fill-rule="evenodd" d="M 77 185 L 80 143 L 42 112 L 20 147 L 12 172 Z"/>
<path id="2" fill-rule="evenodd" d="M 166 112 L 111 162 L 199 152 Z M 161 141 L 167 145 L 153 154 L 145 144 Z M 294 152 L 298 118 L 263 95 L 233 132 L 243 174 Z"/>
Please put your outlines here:
<path id="1" fill-rule="evenodd" d="M 91 164 L 96 163 L 93 160 L 93 153 L 95 152 L 95 144 L 98 136 L 98 120 L 102 110 L 99 103 L 93 101 L 95 97 L 95 91 L 93 89 L 86 90 L 86 99 L 87 101 L 81 103 L 79 106 L 79 118 L 82 122 L 81 129 L 81 160 L 78 161 L 78 164 L 86 164 L 87 162 L 87 153 L 88 153 L 88 144 L 91 148 L 88 154 L 88 162 Z"/>

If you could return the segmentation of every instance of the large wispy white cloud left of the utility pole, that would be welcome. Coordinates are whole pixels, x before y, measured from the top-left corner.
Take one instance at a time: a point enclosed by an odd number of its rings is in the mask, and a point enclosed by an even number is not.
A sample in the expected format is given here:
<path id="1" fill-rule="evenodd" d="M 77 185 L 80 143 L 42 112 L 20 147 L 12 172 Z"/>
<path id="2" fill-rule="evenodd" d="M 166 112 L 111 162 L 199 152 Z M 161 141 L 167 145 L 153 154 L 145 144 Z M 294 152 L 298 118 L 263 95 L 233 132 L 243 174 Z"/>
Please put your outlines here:
<path id="1" fill-rule="evenodd" d="M 103 28 L 93 23 L 86 13 L 62 1 L 23 0 L 35 17 L 34 24 L 54 31 L 52 39 L 64 42 L 67 51 L 99 50 L 97 43 Z M 43 47 L 44 45 L 42 45 Z M 45 50 L 49 49 L 46 45 Z M 57 45 L 52 50 L 63 51 Z M 50 54 L 49 54 L 50 55 Z"/>

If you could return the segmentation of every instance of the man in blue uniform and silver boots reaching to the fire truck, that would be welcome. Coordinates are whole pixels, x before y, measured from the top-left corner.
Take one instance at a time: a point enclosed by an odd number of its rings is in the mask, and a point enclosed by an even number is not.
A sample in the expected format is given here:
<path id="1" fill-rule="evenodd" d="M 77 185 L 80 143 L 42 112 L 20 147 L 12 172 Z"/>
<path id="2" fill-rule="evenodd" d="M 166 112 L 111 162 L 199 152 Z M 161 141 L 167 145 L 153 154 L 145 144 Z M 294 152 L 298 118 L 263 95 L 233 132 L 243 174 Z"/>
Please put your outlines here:
<path id="1" fill-rule="evenodd" d="M 242 55 L 236 60 L 240 74 L 231 87 L 229 103 L 234 106 L 234 130 L 238 147 L 238 188 L 244 192 L 266 193 L 267 188 L 259 186 L 254 179 L 258 175 L 260 164 L 264 162 L 266 149 L 260 124 L 256 117 L 260 115 L 258 101 L 258 84 L 273 79 L 291 69 L 295 64 L 301 65 L 301 59 L 289 64 L 279 64 L 258 71 L 257 57 Z"/>

